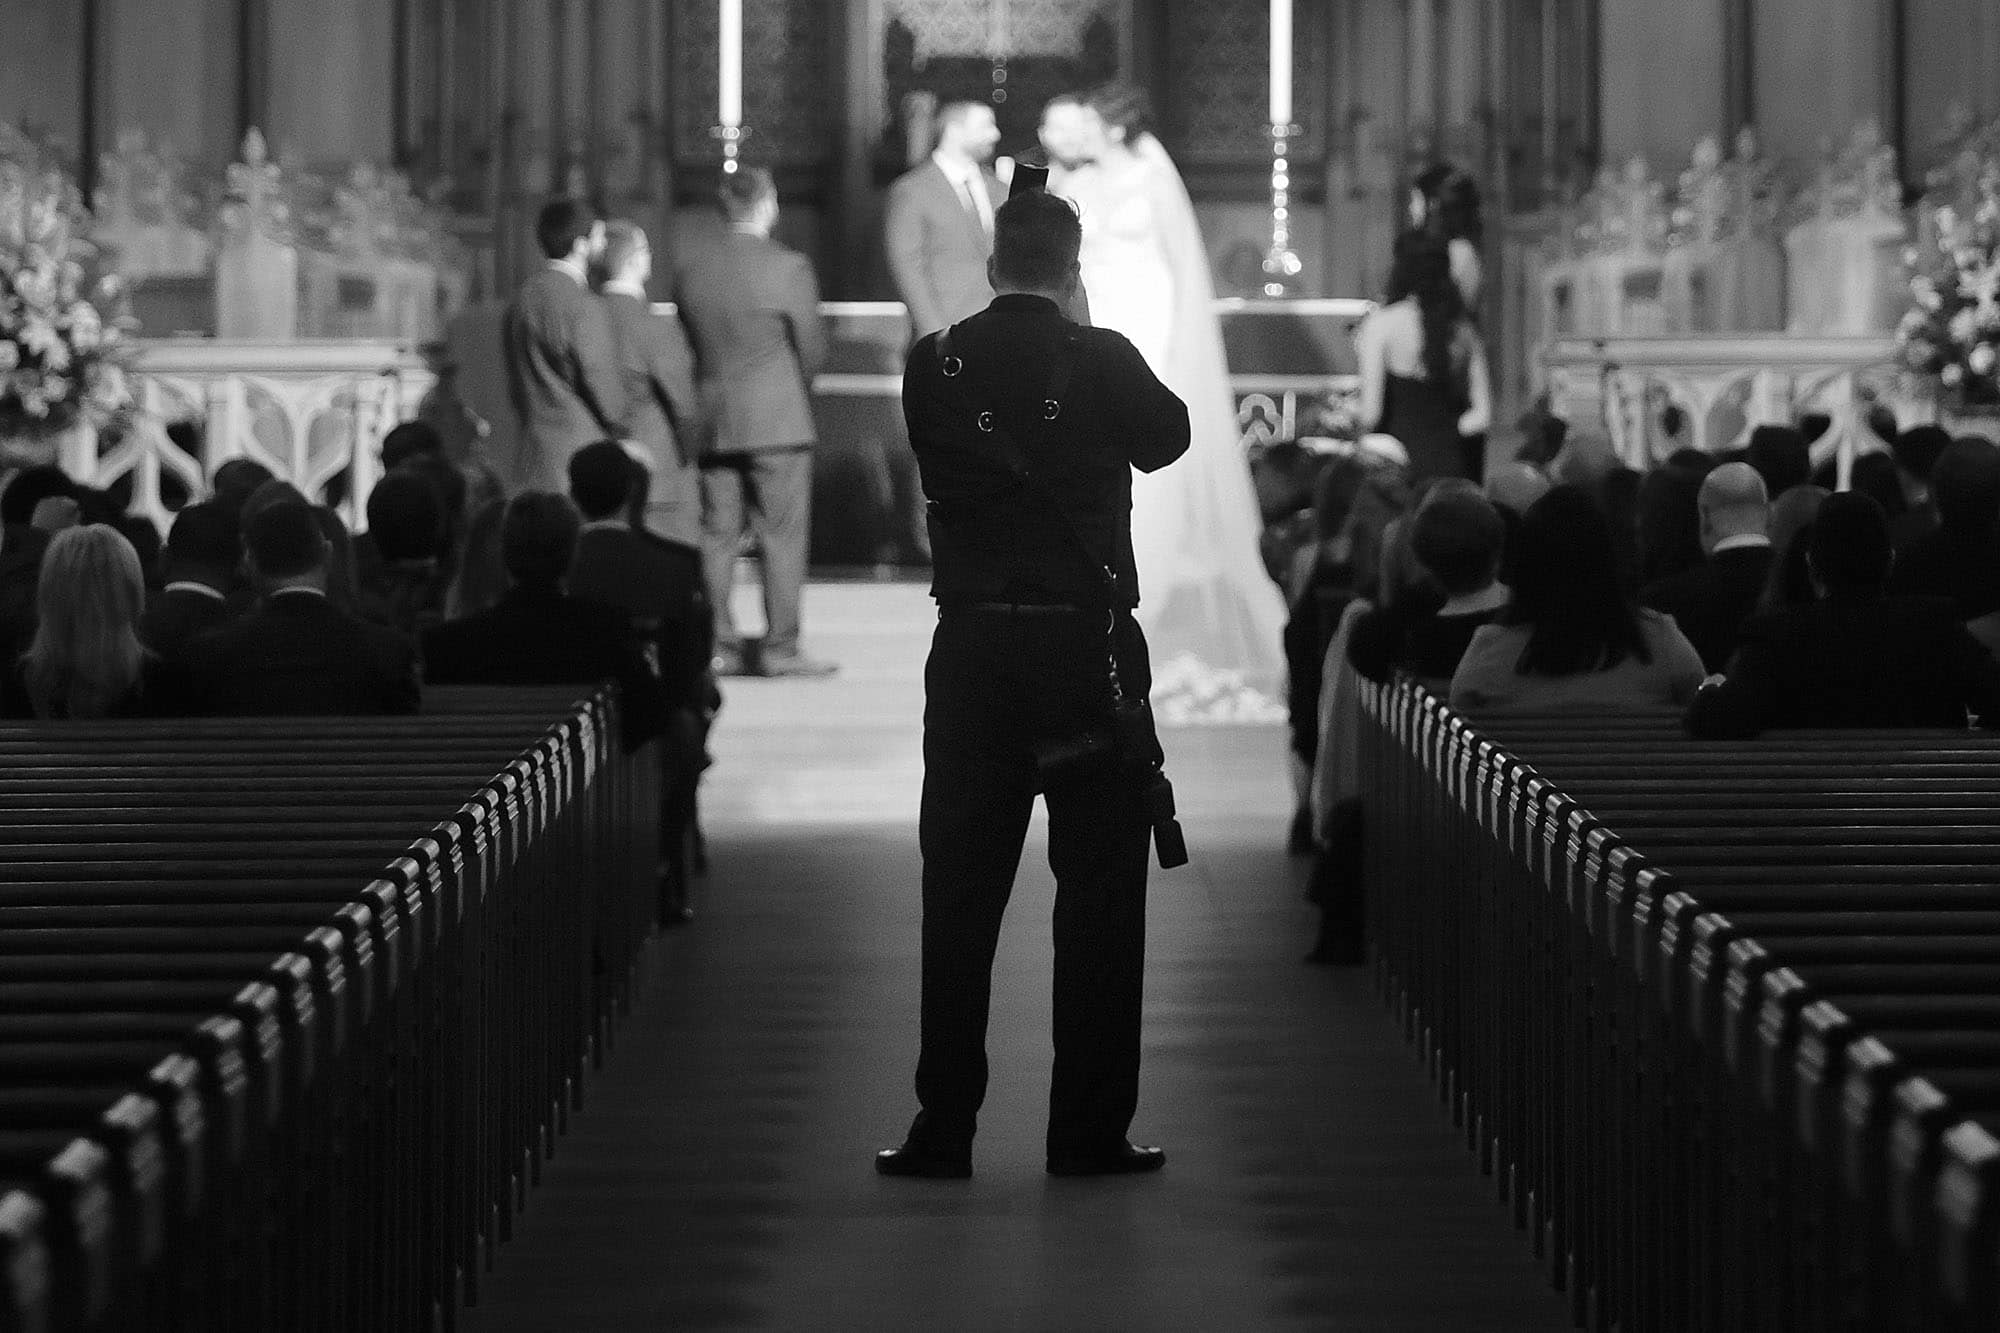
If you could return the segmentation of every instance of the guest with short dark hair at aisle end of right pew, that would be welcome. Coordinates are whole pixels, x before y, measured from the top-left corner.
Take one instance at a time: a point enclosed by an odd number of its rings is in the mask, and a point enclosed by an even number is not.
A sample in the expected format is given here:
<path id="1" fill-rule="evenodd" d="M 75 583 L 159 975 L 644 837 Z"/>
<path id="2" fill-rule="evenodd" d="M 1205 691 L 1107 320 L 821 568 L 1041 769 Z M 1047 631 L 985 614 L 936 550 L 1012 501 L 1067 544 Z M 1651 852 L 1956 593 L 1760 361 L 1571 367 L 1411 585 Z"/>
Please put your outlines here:
<path id="1" fill-rule="evenodd" d="M 1370 681 L 1416 677 L 1442 693 L 1472 634 L 1506 606 L 1498 582 L 1506 524 L 1476 490 L 1444 488 L 1424 496 L 1410 522 L 1410 550 L 1444 592 L 1444 604 L 1372 606 L 1348 636 L 1348 660 Z"/>

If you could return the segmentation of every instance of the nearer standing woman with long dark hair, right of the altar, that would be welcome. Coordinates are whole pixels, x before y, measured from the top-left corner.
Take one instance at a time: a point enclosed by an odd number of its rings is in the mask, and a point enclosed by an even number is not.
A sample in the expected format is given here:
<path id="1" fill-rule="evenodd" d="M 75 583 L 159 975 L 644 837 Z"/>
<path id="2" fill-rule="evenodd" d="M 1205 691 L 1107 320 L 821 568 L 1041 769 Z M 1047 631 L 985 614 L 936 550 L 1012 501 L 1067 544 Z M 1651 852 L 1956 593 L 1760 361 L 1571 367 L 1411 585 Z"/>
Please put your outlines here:
<path id="1" fill-rule="evenodd" d="M 1366 430 L 1394 436 L 1420 488 L 1474 476 L 1492 422 L 1492 384 L 1446 242 L 1426 230 L 1396 238 L 1388 296 L 1354 330 Z"/>

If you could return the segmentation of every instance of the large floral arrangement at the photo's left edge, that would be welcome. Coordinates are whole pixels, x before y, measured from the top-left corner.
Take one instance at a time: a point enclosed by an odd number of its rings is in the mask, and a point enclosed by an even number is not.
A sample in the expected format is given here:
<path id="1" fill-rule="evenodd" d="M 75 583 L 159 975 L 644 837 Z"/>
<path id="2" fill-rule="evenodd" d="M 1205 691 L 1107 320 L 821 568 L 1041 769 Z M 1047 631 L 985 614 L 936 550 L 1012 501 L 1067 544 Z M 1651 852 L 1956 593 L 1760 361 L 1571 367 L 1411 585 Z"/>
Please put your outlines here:
<path id="1" fill-rule="evenodd" d="M 98 274 L 90 214 L 54 154 L 0 136 L 0 436 L 106 426 L 130 408 L 116 274 Z"/>

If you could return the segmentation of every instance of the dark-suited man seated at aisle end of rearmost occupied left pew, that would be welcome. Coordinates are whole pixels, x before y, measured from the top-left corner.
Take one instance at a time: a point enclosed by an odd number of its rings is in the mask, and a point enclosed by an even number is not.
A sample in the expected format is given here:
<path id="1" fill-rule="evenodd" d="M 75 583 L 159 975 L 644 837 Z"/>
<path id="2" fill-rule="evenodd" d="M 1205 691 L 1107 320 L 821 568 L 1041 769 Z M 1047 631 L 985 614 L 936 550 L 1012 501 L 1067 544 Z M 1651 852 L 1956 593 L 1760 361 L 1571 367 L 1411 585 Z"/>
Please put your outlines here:
<path id="1" fill-rule="evenodd" d="M 548 490 L 508 500 L 500 556 L 508 586 L 488 610 L 424 632 L 424 679 L 432 685 L 620 687 L 626 749 L 666 727 L 666 695 L 636 634 L 614 608 L 562 590 L 582 534 L 576 506 Z"/>

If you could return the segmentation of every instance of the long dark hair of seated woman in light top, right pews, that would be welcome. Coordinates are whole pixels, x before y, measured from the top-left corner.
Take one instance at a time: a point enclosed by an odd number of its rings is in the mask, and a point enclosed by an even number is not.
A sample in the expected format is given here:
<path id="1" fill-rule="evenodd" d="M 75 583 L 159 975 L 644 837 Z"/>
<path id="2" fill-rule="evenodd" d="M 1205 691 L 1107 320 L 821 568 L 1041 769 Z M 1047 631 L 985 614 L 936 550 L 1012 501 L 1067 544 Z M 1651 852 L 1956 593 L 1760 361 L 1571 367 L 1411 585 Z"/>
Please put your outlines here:
<path id="1" fill-rule="evenodd" d="M 1508 624 L 1528 626 L 1516 671 L 1574 677 L 1638 658 L 1650 662 L 1638 606 L 1618 582 L 1604 510 L 1582 486 L 1556 486 L 1522 514 L 1508 560 Z"/>

